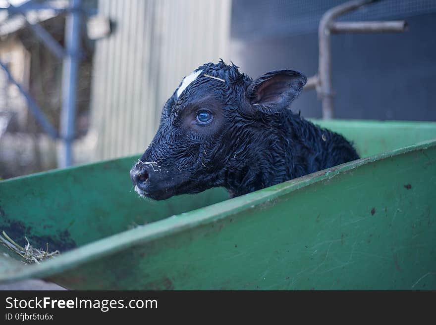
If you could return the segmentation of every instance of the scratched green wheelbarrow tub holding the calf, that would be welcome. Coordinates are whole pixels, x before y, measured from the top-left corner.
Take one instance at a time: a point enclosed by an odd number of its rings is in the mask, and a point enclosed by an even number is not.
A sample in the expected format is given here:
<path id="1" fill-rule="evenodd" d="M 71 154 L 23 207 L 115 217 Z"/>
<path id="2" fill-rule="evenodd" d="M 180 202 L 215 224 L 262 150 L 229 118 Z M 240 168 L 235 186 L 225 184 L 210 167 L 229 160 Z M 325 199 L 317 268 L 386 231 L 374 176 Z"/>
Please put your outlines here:
<path id="1" fill-rule="evenodd" d="M 363 155 L 436 138 L 432 123 L 352 123 L 329 127 Z M 68 230 L 79 247 L 32 266 L 0 256 L 0 281 L 41 277 L 74 289 L 436 289 L 435 142 L 214 205 L 226 197 L 220 189 L 139 200 L 128 184 L 132 162 L 1 182 L 0 226 L 18 220 L 42 237 Z"/>

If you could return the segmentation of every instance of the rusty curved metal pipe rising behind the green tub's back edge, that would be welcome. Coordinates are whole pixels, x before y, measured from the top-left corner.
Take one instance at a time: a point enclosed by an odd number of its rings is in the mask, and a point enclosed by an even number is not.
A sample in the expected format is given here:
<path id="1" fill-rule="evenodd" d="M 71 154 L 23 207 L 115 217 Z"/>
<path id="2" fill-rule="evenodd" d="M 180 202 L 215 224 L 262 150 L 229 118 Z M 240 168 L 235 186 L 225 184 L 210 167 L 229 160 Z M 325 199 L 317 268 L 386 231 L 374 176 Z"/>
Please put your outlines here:
<path id="1" fill-rule="evenodd" d="M 319 40 L 319 87 L 318 95 L 323 106 L 323 118 L 331 119 L 333 112 L 333 89 L 331 86 L 331 58 L 330 58 L 330 25 L 336 17 L 374 0 L 355 0 L 345 2 L 326 11 L 320 20 L 318 28 Z"/>

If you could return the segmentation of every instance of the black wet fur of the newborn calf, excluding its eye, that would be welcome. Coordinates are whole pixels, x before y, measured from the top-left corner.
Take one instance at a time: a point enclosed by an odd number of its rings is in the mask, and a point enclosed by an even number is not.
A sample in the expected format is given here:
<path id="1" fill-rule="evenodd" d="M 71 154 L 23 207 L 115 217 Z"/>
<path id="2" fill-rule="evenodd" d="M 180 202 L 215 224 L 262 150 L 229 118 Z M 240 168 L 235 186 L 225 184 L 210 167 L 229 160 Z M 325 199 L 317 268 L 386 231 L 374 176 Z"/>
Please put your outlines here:
<path id="1" fill-rule="evenodd" d="M 223 186 L 239 196 L 359 158 L 341 135 L 289 109 L 306 83 L 301 73 L 272 71 L 253 81 L 222 60 L 199 69 L 180 97 L 176 90 L 168 99 L 130 172 L 141 195 L 165 199 Z M 202 110 L 213 113 L 210 124 L 196 123 Z"/>

